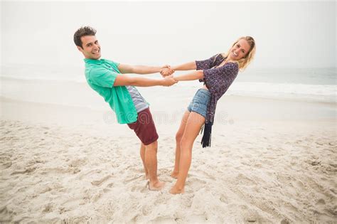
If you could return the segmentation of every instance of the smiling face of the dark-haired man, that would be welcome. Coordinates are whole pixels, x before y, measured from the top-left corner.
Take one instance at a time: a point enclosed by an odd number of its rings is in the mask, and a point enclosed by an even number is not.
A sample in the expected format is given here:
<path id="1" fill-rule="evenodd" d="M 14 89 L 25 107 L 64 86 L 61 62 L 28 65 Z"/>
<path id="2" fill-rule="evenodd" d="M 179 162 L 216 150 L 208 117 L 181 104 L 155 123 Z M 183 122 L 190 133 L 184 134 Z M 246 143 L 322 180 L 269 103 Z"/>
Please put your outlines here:
<path id="1" fill-rule="evenodd" d="M 88 59 L 100 59 L 101 57 L 101 46 L 98 43 L 96 36 L 82 36 L 82 48 L 77 46 L 78 50 L 83 53 L 85 58 Z"/>

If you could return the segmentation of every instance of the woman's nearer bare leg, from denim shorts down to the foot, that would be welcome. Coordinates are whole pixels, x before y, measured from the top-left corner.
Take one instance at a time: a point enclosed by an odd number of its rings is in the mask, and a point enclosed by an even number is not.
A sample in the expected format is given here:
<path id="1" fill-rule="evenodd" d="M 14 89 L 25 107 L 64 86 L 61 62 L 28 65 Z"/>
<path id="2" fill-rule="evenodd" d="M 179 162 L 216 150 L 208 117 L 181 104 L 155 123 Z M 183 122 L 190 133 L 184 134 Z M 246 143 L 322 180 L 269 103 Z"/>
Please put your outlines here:
<path id="1" fill-rule="evenodd" d="M 198 136 L 201 127 L 205 123 L 205 117 L 196 112 L 188 115 L 188 120 L 181 139 L 181 157 L 179 163 L 179 174 L 176 184 L 171 188 L 170 193 L 183 193 L 185 188 L 186 177 L 192 161 L 193 143 Z"/>

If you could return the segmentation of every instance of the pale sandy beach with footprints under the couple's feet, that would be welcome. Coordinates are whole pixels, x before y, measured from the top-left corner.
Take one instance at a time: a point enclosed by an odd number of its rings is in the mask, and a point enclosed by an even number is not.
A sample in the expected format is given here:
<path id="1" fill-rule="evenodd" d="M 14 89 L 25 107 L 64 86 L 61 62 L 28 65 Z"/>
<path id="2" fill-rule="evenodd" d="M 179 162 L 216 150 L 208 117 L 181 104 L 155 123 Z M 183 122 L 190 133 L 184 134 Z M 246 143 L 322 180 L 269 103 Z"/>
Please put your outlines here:
<path id="1" fill-rule="evenodd" d="M 159 132 L 156 192 L 139 140 L 84 84 L 78 105 L 53 103 L 58 85 L 20 85 L 21 100 L 1 97 L 0 223 L 336 223 L 335 103 L 223 97 L 212 147 L 197 138 L 186 193 L 172 196 L 174 136 L 196 89 L 139 89 Z"/>

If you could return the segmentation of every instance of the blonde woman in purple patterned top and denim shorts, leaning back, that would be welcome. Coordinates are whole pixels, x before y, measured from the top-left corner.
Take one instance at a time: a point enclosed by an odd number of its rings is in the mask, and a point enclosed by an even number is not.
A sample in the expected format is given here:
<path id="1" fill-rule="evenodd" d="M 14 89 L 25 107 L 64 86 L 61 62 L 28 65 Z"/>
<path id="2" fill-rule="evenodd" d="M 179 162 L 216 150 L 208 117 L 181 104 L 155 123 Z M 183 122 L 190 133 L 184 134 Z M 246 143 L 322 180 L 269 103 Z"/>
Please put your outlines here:
<path id="1" fill-rule="evenodd" d="M 171 174 L 178 178 L 170 193 L 183 193 L 188 170 L 191 166 L 193 142 L 205 124 L 203 147 L 210 146 L 216 103 L 235 80 L 239 70 L 243 70 L 255 55 L 255 41 L 250 36 L 239 38 L 227 54 L 218 54 L 208 60 L 197 60 L 161 70 L 161 75 L 171 75 L 174 70 L 196 70 L 193 73 L 174 77 L 177 81 L 200 80 L 204 82 L 196 92 L 188 111 L 183 114 L 176 134 L 176 161 Z"/>

